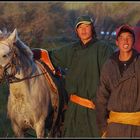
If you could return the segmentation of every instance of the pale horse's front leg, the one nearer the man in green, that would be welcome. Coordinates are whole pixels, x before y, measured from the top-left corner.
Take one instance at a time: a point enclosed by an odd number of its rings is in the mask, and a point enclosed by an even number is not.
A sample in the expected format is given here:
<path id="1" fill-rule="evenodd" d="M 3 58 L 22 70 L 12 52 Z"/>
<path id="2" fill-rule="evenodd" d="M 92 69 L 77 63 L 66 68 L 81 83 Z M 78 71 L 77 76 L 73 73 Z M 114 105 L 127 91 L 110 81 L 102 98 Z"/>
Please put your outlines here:
<path id="1" fill-rule="evenodd" d="M 36 123 L 35 131 L 36 131 L 37 138 L 44 138 L 45 136 L 45 121 L 44 120 L 41 120 Z"/>

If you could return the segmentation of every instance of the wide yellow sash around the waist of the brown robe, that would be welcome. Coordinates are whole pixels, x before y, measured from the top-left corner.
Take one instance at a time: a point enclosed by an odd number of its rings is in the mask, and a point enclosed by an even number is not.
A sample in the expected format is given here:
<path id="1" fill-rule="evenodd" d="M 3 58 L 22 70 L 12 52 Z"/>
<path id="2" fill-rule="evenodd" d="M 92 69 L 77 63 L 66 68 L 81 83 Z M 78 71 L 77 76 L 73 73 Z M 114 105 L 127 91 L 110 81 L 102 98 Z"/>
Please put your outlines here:
<path id="1" fill-rule="evenodd" d="M 140 126 L 140 112 L 125 113 L 111 111 L 107 122 Z"/>

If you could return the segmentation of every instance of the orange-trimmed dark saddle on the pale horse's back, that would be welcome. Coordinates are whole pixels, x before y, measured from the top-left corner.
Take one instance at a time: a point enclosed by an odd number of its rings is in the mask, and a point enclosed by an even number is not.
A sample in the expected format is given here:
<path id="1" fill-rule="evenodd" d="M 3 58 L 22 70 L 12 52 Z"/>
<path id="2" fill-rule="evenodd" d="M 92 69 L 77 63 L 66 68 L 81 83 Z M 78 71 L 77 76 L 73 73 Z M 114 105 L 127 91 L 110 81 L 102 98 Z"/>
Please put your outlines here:
<path id="1" fill-rule="evenodd" d="M 46 76 L 46 79 L 49 81 L 49 85 L 51 89 L 55 93 L 52 96 L 53 98 L 51 98 L 53 109 L 54 109 L 53 125 L 55 125 L 55 123 L 56 125 L 58 125 L 57 124 L 58 122 L 56 120 L 57 118 L 60 117 L 59 116 L 60 115 L 59 113 L 61 112 L 60 110 L 62 109 L 62 112 L 63 112 L 67 109 L 67 94 L 64 93 L 66 91 L 62 87 L 60 89 L 60 85 L 57 82 L 58 80 L 56 80 L 56 79 L 62 79 L 62 73 L 59 69 L 53 67 L 47 50 L 41 49 L 41 48 L 34 48 L 32 49 L 32 52 L 33 52 L 34 60 L 39 61 L 37 64 L 40 65 L 42 71 L 45 72 L 46 69 L 47 71 L 49 71 L 47 74 L 45 74 L 45 76 Z M 60 103 L 62 102 L 61 100 L 64 100 L 62 105 L 60 105 Z M 62 121 L 63 121 L 63 118 L 62 118 Z"/>

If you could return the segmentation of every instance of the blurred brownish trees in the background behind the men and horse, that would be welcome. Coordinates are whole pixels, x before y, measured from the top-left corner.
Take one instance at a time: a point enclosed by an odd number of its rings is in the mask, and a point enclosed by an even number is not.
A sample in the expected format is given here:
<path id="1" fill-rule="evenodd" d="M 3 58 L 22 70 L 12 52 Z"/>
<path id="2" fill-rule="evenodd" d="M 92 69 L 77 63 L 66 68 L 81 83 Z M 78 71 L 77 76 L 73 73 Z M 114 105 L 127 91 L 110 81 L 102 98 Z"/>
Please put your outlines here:
<path id="1" fill-rule="evenodd" d="M 82 6 L 81 6 L 82 5 Z M 0 29 L 13 31 L 30 47 L 57 47 L 58 42 L 74 41 L 74 22 L 81 14 L 94 17 L 99 38 L 110 35 L 122 23 L 136 25 L 140 15 L 139 3 L 107 2 L 1 2 Z M 51 45 L 49 45 L 49 42 Z"/>

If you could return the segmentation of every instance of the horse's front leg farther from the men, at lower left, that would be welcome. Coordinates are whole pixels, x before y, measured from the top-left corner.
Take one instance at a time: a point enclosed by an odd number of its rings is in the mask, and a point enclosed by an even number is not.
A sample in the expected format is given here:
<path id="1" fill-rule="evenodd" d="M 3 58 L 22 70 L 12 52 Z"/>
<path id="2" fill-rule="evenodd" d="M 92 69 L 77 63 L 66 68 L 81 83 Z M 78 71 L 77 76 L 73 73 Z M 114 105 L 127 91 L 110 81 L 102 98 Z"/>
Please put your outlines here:
<path id="1" fill-rule="evenodd" d="M 23 130 L 16 123 L 12 122 L 12 128 L 16 137 L 24 137 Z"/>

